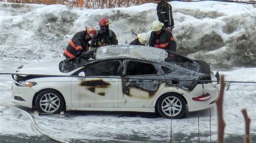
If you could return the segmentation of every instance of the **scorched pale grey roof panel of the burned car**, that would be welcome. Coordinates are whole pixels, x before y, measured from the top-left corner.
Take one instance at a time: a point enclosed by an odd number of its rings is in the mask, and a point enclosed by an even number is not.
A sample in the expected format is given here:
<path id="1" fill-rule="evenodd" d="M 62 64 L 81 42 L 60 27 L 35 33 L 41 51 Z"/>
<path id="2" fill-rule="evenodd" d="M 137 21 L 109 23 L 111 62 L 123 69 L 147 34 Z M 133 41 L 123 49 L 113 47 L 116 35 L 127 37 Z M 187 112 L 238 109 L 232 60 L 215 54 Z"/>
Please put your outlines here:
<path id="1" fill-rule="evenodd" d="M 160 48 L 139 45 L 111 45 L 97 48 L 96 59 L 131 58 L 149 60 L 154 62 L 164 61 L 168 53 Z"/>

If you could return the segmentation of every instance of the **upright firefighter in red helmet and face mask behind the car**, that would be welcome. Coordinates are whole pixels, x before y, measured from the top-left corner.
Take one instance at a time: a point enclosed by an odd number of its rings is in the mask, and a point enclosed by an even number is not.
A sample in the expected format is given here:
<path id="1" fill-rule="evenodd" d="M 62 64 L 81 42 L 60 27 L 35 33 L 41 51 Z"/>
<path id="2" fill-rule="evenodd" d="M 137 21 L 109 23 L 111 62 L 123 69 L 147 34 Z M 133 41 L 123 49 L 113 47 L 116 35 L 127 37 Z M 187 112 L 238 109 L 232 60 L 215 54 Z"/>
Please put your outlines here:
<path id="1" fill-rule="evenodd" d="M 114 31 L 109 29 L 109 19 L 103 17 L 100 19 L 100 29 L 97 30 L 98 35 L 94 37 L 90 44 L 90 50 L 100 46 L 118 45 L 118 40 Z"/>

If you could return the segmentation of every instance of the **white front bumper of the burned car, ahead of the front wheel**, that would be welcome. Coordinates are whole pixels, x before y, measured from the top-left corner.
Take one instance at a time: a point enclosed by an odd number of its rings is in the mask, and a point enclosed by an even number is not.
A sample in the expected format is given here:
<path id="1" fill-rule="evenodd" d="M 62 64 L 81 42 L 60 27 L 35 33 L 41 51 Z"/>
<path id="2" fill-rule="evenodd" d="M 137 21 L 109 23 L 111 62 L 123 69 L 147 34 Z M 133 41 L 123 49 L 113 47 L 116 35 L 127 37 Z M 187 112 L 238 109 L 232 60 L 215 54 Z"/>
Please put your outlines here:
<path id="1" fill-rule="evenodd" d="M 30 87 L 17 86 L 16 83 L 12 82 L 11 87 L 12 99 L 14 104 L 32 108 L 33 95 L 36 91 Z"/>

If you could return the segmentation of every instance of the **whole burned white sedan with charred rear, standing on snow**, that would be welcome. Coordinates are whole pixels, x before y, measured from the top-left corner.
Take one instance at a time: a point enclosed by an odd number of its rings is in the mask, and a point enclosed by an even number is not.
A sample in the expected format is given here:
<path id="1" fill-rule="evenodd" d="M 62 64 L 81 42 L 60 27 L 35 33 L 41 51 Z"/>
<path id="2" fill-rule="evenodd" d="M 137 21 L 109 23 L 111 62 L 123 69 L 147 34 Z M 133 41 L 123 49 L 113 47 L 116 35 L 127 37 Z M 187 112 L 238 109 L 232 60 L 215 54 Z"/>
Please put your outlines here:
<path id="1" fill-rule="evenodd" d="M 188 111 L 210 108 L 218 96 L 218 75 L 206 62 L 148 46 L 104 46 L 23 65 L 12 80 L 12 102 L 42 113 L 137 111 L 174 119 L 186 105 Z"/>

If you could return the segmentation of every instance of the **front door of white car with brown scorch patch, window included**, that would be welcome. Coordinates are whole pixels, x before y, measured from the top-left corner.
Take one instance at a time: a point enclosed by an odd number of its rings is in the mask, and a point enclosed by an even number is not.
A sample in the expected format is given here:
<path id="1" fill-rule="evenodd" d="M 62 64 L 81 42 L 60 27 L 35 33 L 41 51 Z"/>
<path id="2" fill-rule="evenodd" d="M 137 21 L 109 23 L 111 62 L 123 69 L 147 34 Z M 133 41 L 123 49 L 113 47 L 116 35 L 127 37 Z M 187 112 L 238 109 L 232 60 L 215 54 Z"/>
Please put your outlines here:
<path id="1" fill-rule="evenodd" d="M 87 65 L 85 78 L 73 78 L 71 83 L 73 107 L 118 107 L 118 87 L 121 60 L 108 60 Z"/>

